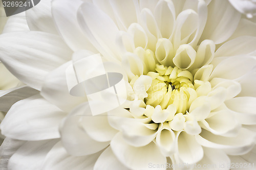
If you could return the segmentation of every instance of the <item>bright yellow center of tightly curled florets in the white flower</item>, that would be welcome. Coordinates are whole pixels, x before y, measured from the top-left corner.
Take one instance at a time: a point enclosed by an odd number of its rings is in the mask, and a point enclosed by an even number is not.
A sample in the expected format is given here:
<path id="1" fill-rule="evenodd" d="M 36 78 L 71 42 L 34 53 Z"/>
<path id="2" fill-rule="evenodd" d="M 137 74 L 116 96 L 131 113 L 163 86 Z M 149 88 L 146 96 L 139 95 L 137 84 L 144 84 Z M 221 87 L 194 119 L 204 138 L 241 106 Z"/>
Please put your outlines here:
<path id="1" fill-rule="evenodd" d="M 162 109 L 166 109 L 170 104 L 174 104 L 178 113 L 186 113 L 190 106 L 189 91 L 195 90 L 193 75 L 189 71 L 157 64 L 156 72 L 150 71 L 147 76 L 153 81 L 144 100 L 146 105 L 160 105 Z"/>

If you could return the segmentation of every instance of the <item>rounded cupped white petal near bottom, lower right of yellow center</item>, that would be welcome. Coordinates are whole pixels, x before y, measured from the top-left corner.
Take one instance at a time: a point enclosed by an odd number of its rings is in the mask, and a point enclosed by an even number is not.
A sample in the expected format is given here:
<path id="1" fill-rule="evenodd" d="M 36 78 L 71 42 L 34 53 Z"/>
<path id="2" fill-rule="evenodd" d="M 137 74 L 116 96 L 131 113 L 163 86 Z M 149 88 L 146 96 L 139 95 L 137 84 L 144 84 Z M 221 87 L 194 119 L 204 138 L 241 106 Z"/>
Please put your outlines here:
<path id="1" fill-rule="evenodd" d="M 177 139 L 179 157 L 185 163 L 196 163 L 203 158 L 203 148 L 196 141 L 194 135 L 181 132 Z"/>

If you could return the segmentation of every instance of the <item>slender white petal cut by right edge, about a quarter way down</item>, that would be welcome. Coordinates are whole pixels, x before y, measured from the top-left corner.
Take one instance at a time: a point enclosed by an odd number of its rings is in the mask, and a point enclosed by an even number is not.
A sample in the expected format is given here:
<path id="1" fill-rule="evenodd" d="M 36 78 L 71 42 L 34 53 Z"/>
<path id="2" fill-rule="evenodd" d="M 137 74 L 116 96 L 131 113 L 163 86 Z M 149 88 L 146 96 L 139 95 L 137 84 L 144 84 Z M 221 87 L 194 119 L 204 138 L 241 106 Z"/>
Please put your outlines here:
<path id="1" fill-rule="evenodd" d="M 256 51 L 254 44 L 256 37 L 242 36 L 221 45 L 215 53 L 215 57 L 228 57 L 243 54 L 250 54 Z"/>

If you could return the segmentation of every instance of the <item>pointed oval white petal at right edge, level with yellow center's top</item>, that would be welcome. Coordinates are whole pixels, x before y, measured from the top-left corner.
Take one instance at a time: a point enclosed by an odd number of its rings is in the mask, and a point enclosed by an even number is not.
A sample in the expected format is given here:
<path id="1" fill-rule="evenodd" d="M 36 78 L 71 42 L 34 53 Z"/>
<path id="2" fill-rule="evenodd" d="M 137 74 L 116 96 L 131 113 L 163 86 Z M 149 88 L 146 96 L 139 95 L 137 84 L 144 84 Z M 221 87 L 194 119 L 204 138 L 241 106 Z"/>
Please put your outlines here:
<path id="1" fill-rule="evenodd" d="M 212 71 L 210 80 L 218 77 L 223 79 L 238 79 L 249 72 L 256 64 L 250 56 L 229 57 L 221 61 Z"/>

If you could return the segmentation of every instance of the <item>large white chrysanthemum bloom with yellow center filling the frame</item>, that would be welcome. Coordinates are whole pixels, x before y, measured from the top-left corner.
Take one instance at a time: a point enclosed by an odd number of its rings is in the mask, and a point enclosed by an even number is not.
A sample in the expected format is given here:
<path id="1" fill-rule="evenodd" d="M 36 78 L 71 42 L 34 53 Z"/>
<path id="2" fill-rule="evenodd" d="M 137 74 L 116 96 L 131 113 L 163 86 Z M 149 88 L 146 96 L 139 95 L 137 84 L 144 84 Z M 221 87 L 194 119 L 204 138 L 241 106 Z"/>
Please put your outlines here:
<path id="1" fill-rule="evenodd" d="M 26 141 L 3 166 L 255 169 L 256 24 L 228 1 L 46 0 L 27 21 L 0 36 L 0 59 L 40 95 L 3 120 Z M 123 75 L 127 101 L 93 116 L 66 70 L 94 54 Z"/>

